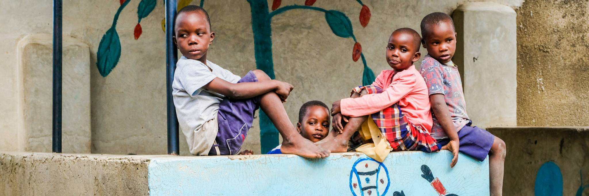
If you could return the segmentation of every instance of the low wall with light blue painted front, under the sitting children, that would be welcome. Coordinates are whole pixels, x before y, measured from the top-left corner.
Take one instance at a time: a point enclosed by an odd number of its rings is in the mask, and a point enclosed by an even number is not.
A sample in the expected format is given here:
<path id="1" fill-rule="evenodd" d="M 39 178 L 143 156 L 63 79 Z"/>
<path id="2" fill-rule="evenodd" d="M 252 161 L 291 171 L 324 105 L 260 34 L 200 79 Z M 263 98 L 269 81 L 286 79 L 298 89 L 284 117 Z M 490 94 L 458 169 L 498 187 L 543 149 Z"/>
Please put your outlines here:
<path id="1" fill-rule="evenodd" d="M 4 195 L 488 195 L 488 161 L 442 151 L 296 155 L 0 153 Z M 425 175 L 424 175 L 425 171 Z M 443 193 L 443 194 L 442 194 Z"/>

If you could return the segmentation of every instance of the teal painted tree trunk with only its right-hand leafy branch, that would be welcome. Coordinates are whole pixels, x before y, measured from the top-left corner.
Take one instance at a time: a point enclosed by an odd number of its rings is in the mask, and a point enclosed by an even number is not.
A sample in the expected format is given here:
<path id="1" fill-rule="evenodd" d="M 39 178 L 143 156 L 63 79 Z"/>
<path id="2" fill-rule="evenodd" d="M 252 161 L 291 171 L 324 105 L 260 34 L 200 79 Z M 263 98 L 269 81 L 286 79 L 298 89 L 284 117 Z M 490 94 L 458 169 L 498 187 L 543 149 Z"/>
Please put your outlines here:
<path id="1" fill-rule="evenodd" d="M 266 72 L 272 79 L 276 78 L 274 74 L 274 63 L 272 59 L 272 17 L 282 14 L 283 12 L 293 9 L 306 9 L 310 11 L 319 11 L 325 13 L 325 21 L 333 34 L 342 38 L 352 38 L 352 61 L 356 62 L 362 59 L 364 71 L 362 74 L 362 85 L 372 84 L 375 75 L 372 69 L 366 65 L 366 59 L 362 54 L 362 45 L 356 40 L 352 29 L 352 22 L 348 16 L 340 11 L 327 10 L 312 6 L 313 0 L 305 1 L 305 5 L 288 5 L 281 6 L 282 1 L 274 0 L 272 3 L 272 12 L 269 11 L 266 0 L 247 0 L 252 10 L 252 31 L 254 34 L 254 52 L 256 57 L 256 68 Z M 361 5 L 359 21 L 360 25 L 366 27 L 370 21 L 370 9 L 362 1 L 357 1 Z M 260 111 L 260 144 L 261 151 L 267 152 L 279 144 L 278 130 L 270 119 Z"/>

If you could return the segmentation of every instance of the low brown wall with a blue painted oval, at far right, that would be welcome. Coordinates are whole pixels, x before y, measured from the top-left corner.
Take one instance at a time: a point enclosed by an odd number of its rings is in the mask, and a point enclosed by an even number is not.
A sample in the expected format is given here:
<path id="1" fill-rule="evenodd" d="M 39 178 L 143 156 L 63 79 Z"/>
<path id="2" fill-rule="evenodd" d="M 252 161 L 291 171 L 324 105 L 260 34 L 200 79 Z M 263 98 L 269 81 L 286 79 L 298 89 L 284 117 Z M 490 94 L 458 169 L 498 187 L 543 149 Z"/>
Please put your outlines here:
<path id="1" fill-rule="evenodd" d="M 504 195 L 589 194 L 589 127 L 487 130 L 507 145 Z"/>

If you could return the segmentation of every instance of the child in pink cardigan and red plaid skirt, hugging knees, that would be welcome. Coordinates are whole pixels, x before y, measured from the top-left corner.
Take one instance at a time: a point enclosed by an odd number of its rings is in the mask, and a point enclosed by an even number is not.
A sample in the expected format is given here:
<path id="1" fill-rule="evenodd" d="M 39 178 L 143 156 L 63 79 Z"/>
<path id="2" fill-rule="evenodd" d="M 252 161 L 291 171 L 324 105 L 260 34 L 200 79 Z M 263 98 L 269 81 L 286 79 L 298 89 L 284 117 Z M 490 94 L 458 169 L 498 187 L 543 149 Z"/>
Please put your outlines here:
<path id="1" fill-rule="evenodd" d="M 392 32 L 386 46 L 386 61 L 392 70 L 380 72 L 372 85 L 354 88 L 351 98 L 333 102 L 333 129 L 319 142 L 320 146 L 332 152 L 346 152 L 350 137 L 369 119 L 378 127 L 375 128 L 378 134 L 372 136 L 375 146 L 356 151 L 365 152 L 377 161 L 382 161 L 391 151 L 439 150 L 428 132 L 432 126 L 428 89 L 413 66 L 421 57 L 420 40 L 411 28 Z M 347 124 L 342 124 L 342 118 Z M 376 144 L 382 138 L 386 140 Z"/>

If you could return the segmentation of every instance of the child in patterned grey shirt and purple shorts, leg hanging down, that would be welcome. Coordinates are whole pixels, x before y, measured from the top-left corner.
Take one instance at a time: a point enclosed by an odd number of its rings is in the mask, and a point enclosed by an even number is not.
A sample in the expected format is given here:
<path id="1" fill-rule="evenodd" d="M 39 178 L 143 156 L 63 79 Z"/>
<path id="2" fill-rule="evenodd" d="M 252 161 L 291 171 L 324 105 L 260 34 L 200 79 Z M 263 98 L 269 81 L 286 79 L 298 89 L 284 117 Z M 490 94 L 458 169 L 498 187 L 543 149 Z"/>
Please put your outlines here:
<path id="1" fill-rule="evenodd" d="M 435 12 L 421 21 L 423 47 L 428 55 L 421 61 L 421 74 L 429 89 L 429 100 L 434 113 L 431 135 L 443 145 L 443 150 L 454 154 L 451 167 L 458 160 L 458 151 L 479 161 L 489 155 L 491 195 L 501 195 L 505 142 L 488 131 L 471 127 L 466 115 L 466 104 L 458 65 L 452 62 L 456 51 L 456 31 L 448 14 Z"/>

